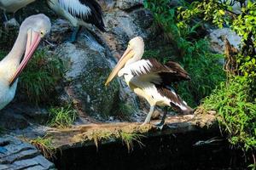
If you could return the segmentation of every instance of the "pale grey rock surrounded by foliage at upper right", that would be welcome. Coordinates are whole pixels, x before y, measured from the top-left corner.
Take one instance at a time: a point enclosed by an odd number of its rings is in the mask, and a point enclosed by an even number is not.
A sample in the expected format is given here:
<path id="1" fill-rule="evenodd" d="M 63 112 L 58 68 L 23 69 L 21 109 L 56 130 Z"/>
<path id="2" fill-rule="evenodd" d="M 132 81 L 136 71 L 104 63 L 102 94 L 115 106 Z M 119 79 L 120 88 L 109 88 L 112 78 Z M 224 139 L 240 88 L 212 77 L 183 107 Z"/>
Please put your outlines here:
<path id="1" fill-rule="evenodd" d="M 224 53 L 224 37 L 227 37 L 230 44 L 235 48 L 239 48 L 241 37 L 236 35 L 236 32 L 231 31 L 230 28 L 222 28 L 210 31 L 210 42 L 212 50 L 216 53 Z"/>

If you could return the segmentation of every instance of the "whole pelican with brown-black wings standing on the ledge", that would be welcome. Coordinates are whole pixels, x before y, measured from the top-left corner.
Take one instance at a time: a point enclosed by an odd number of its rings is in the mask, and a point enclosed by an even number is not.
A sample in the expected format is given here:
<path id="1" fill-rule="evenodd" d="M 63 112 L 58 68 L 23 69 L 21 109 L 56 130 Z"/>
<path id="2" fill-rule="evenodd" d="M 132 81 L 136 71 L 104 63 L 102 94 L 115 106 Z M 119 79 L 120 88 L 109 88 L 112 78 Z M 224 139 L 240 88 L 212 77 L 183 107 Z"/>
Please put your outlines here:
<path id="1" fill-rule="evenodd" d="M 107 82 L 118 77 L 124 77 L 125 82 L 131 90 L 146 99 L 150 105 L 148 116 L 142 125 L 150 122 L 154 107 L 172 106 L 176 111 L 190 114 L 193 109 L 181 99 L 171 87 L 172 82 L 189 80 L 189 75 L 175 62 L 169 61 L 166 65 L 160 64 L 156 59 L 142 59 L 144 53 L 144 42 L 142 37 L 131 39 L 125 53 L 113 68 Z M 160 129 L 164 126 L 167 111 L 164 113 L 160 123 L 156 124 Z"/>

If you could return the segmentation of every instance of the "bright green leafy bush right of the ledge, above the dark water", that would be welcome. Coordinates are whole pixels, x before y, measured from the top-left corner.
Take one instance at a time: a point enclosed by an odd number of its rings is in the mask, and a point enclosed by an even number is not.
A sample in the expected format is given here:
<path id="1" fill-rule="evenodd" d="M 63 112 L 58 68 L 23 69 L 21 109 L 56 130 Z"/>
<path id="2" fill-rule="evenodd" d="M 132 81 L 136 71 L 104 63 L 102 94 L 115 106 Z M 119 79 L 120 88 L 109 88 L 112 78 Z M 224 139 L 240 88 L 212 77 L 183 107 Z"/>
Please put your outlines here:
<path id="1" fill-rule="evenodd" d="M 248 101 L 249 83 L 246 77 L 234 77 L 221 83 L 203 102 L 207 110 L 218 111 L 219 122 L 230 143 L 244 150 L 256 149 L 256 101 Z"/>

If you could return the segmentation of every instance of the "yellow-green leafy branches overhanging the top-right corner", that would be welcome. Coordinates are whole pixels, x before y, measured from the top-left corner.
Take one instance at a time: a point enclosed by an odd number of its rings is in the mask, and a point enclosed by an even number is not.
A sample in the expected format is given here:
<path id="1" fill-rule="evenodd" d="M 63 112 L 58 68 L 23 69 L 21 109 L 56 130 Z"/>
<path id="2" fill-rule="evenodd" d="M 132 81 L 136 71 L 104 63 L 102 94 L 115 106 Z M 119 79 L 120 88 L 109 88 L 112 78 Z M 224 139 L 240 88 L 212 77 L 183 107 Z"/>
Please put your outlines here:
<path id="1" fill-rule="evenodd" d="M 233 2 L 233 3 L 232 3 Z M 210 20 L 218 27 L 230 26 L 230 28 L 241 36 L 241 51 L 236 56 L 241 75 L 250 79 L 250 89 L 253 98 L 256 97 L 256 2 L 247 1 L 224 1 L 216 3 L 210 1 L 194 1 L 193 8 L 179 8 L 178 18 L 183 27 L 189 26 L 191 19 L 201 17 Z M 241 14 L 232 12 L 232 4 L 241 3 Z"/>

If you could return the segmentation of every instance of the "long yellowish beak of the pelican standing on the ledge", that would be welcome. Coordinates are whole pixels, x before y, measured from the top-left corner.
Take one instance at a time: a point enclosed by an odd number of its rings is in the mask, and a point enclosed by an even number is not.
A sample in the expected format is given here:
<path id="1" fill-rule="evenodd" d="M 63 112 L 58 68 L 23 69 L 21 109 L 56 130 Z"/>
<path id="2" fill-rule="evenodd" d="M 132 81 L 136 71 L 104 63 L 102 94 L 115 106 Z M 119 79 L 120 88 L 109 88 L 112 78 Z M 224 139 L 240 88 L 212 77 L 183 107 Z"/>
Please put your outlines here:
<path id="1" fill-rule="evenodd" d="M 125 50 L 125 53 L 123 54 L 123 56 L 121 57 L 121 59 L 119 59 L 119 62 L 117 65 L 115 65 L 115 67 L 113 68 L 113 71 L 110 73 L 107 81 L 105 82 L 105 86 L 108 86 L 108 83 L 111 82 L 113 80 L 113 77 L 115 77 L 119 70 L 121 68 L 123 68 L 123 66 L 125 65 L 125 63 L 127 62 L 128 59 L 131 59 L 134 55 L 134 51 L 132 50 L 132 48 L 128 47 Z"/>

